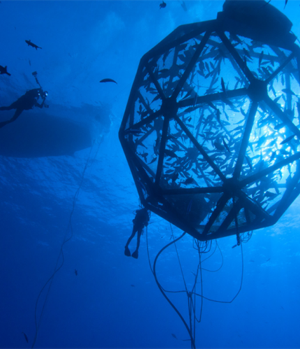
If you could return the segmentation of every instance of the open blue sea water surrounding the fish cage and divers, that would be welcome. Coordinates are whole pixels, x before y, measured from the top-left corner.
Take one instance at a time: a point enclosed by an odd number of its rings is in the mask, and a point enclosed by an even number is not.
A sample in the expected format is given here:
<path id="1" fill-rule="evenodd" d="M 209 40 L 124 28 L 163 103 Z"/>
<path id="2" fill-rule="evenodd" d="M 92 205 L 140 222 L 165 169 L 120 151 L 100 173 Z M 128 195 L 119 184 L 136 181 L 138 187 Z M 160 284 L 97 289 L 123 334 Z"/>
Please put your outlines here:
<path id="1" fill-rule="evenodd" d="M 11 76 L 0 75 L 0 106 L 37 88 L 36 71 L 49 108 L 24 111 L 0 130 L 0 348 L 31 348 L 35 310 L 35 348 L 190 348 L 151 274 L 146 234 L 137 260 L 123 254 L 139 198 L 118 131 L 143 54 L 181 24 L 216 19 L 223 1 L 160 3 L 1 0 L 0 64 Z M 271 4 L 300 37 L 299 1 Z M 107 77 L 117 84 L 99 83 Z M 0 121 L 11 115 L 1 112 Z M 243 244 L 241 292 L 230 304 L 204 300 L 197 348 L 300 347 L 299 209 L 298 198 L 276 225 Z M 66 237 L 63 266 L 36 309 Z M 172 239 L 170 224 L 151 214 L 148 238 L 153 262 Z M 203 271 L 204 296 L 230 301 L 239 290 L 236 240 L 218 240 L 223 267 Z M 177 248 L 191 285 L 193 239 L 185 236 Z M 216 251 L 203 267 L 221 263 Z M 183 289 L 174 247 L 157 270 L 167 289 Z M 187 316 L 186 295 L 171 297 Z"/>

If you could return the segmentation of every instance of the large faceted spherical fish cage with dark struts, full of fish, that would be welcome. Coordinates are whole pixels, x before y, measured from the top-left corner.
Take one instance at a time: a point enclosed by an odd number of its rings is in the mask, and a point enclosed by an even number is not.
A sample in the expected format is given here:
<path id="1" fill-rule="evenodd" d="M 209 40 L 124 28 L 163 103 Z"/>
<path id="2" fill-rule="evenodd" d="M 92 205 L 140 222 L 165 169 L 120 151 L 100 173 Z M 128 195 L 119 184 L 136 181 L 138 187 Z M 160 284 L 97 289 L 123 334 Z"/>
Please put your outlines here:
<path id="1" fill-rule="evenodd" d="M 142 57 L 119 131 L 142 204 L 200 241 L 273 225 L 300 192 L 292 24 L 234 3 Z"/>

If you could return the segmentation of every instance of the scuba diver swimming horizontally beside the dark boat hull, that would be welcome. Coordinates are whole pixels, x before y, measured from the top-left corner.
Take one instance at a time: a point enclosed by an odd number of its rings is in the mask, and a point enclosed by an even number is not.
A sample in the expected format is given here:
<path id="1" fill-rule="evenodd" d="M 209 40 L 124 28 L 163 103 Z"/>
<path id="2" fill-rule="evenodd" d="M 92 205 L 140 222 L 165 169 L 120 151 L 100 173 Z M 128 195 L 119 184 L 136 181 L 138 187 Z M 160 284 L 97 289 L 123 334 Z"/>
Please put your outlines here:
<path id="1" fill-rule="evenodd" d="M 20 117 L 20 114 L 22 114 L 23 110 L 30 110 L 33 107 L 43 108 L 47 95 L 47 91 L 43 91 L 42 88 L 31 89 L 8 107 L 0 107 L 0 110 L 15 109 L 15 114 L 10 120 L 0 122 L 0 128 L 6 126 L 6 124 L 9 124 L 10 122 L 15 121 L 18 117 Z M 38 103 L 38 98 L 42 98 L 43 102 L 41 104 Z M 45 107 L 48 106 L 45 105 Z"/>

